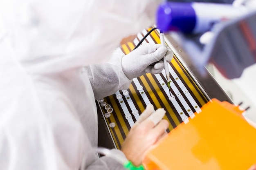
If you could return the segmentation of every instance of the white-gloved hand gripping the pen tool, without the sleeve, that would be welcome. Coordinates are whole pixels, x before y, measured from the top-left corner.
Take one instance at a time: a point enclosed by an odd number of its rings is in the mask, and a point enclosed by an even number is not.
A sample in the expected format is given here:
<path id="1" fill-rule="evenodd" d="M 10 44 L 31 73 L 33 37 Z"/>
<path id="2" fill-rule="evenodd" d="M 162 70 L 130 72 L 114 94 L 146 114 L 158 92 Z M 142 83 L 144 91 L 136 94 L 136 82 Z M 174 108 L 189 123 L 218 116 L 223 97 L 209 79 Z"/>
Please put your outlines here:
<path id="1" fill-rule="evenodd" d="M 162 58 L 171 62 L 173 52 L 162 44 L 142 44 L 122 58 L 122 68 L 128 79 L 133 79 L 146 73 L 159 74 L 164 69 Z"/>

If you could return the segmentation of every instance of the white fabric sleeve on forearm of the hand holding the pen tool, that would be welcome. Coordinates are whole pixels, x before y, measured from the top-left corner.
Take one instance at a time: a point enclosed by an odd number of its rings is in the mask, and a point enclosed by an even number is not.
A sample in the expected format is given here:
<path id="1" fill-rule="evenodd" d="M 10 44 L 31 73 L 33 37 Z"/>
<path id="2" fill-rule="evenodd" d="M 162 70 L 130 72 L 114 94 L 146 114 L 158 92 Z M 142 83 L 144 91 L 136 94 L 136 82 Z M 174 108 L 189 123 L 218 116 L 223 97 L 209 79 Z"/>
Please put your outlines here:
<path id="1" fill-rule="evenodd" d="M 132 80 L 128 79 L 122 71 L 121 59 L 123 56 L 124 53 L 120 49 L 116 49 L 108 62 L 84 67 L 90 79 L 95 99 L 101 99 L 118 90 L 129 88 Z"/>

